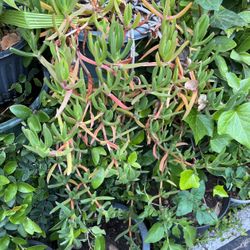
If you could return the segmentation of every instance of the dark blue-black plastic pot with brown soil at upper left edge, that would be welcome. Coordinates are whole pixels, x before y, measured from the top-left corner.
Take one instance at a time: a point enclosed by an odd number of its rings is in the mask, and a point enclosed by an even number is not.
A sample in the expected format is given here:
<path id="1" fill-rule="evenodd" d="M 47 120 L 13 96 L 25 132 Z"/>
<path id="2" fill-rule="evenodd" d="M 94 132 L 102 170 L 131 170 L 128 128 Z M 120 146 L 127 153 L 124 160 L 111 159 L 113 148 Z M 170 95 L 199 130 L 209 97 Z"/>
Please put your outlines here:
<path id="1" fill-rule="evenodd" d="M 26 42 L 19 41 L 13 48 L 22 50 Z M 23 58 L 13 54 L 10 49 L 0 52 L 0 104 L 10 101 L 14 97 L 14 91 L 10 91 L 13 83 L 18 81 L 21 74 L 27 74 L 23 65 Z"/>

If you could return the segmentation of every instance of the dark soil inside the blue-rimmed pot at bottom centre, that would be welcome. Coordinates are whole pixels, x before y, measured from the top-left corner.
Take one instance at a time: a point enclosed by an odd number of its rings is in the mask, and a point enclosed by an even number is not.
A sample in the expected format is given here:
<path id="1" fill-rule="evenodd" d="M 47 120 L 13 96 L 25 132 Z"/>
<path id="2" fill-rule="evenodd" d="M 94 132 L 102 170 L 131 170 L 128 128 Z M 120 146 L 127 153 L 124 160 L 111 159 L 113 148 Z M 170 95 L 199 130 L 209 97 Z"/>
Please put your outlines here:
<path id="1" fill-rule="evenodd" d="M 123 236 L 117 241 L 116 237 L 128 229 L 128 222 L 118 219 L 112 219 L 108 223 L 102 224 L 102 229 L 105 230 L 106 250 L 130 250 L 128 240 Z M 141 238 L 139 233 L 133 232 L 133 240 L 137 246 L 141 245 Z M 89 246 L 83 246 L 81 250 L 89 250 Z"/>

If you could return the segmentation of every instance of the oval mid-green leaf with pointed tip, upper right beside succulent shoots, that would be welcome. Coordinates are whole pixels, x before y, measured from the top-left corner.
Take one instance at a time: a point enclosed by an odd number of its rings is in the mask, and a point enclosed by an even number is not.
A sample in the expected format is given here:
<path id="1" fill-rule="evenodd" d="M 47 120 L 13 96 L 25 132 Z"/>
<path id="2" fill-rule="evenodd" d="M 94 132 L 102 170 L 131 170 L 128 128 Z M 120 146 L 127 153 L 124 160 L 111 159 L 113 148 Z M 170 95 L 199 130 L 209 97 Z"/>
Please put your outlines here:
<path id="1" fill-rule="evenodd" d="M 217 36 L 209 45 L 217 52 L 226 52 L 235 48 L 237 43 L 226 36 Z"/>

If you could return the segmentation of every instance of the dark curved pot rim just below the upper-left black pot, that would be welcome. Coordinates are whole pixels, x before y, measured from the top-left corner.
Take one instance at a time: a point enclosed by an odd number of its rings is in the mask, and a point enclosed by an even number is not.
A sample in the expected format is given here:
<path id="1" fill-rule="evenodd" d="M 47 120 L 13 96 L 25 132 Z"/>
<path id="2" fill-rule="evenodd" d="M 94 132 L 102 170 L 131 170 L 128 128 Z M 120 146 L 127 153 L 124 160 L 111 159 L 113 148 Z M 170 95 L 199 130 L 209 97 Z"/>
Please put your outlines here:
<path id="1" fill-rule="evenodd" d="M 48 71 L 44 70 L 43 74 L 44 74 L 44 77 L 46 77 L 46 78 L 49 77 Z M 31 110 L 35 111 L 40 107 L 40 105 L 41 105 L 41 102 L 40 102 L 41 93 L 43 91 L 47 91 L 47 90 L 48 90 L 48 86 L 44 84 L 39 96 L 36 97 L 36 99 L 33 101 L 33 103 L 29 106 Z M 22 122 L 22 119 L 14 117 L 8 121 L 0 123 L 0 134 L 8 134 L 8 133 L 19 134 L 21 131 L 21 122 Z"/>

